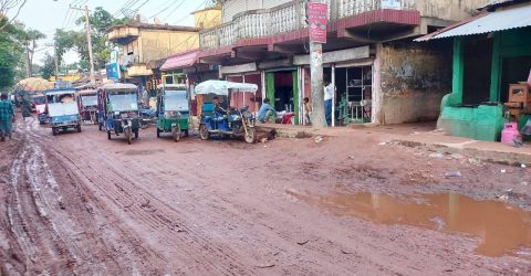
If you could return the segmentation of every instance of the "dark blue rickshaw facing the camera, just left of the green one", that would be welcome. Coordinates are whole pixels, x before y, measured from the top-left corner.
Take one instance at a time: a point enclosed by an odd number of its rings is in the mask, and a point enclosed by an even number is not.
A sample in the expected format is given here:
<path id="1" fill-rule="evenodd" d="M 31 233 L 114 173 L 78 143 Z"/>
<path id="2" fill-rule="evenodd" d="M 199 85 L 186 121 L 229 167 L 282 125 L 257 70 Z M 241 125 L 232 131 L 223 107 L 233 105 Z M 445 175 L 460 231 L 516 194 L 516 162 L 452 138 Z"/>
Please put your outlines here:
<path id="1" fill-rule="evenodd" d="M 140 129 L 138 88 L 134 84 L 106 84 L 100 92 L 100 128 L 107 131 L 107 139 L 123 134 L 127 144 L 138 138 Z"/>

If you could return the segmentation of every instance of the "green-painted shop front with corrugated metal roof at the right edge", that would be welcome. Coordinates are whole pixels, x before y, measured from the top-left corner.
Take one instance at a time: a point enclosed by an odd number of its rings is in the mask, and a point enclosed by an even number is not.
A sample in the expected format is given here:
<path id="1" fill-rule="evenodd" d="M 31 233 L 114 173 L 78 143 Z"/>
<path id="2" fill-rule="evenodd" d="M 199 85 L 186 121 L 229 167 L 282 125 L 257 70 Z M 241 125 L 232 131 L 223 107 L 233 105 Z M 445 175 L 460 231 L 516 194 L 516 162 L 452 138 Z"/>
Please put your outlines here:
<path id="1" fill-rule="evenodd" d="M 452 92 L 442 99 L 440 128 L 454 136 L 496 141 L 504 121 L 516 120 L 521 128 L 531 117 L 531 97 L 511 96 L 511 87 L 519 85 L 523 87 L 519 93 L 529 94 L 531 21 L 522 17 L 531 18 L 531 4 L 485 12 L 417 40 L 454 39 Z"/>

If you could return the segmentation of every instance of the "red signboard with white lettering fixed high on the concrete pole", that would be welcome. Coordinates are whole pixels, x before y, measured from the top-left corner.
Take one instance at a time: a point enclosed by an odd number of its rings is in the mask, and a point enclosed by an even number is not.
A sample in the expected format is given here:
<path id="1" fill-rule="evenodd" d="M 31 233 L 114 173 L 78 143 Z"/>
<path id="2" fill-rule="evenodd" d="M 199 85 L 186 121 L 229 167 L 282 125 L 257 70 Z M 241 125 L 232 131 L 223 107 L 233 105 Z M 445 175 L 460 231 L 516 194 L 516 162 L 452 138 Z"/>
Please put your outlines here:
<path id="1" fill-rule="evenodd" d="M 309 2 L 308 23 L 310 24 L 310 42 L 326 43 L 329 6 L 325 3 Z"/>

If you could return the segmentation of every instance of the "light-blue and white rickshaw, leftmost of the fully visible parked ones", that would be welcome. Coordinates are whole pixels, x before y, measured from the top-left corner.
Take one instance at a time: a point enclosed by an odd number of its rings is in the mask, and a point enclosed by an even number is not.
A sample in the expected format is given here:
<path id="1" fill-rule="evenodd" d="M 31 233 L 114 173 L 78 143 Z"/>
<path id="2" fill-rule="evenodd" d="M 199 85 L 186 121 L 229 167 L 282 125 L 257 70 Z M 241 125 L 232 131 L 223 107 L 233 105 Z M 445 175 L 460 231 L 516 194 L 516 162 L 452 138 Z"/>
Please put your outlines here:
<path id="1" fill-rule="evenodd" d="M 81 132 L 80 109 L 77 107 L 75 91 L 51 89 L 45 91 L 46 96 L 46 114 L 52 135 L 56 136 L 59 130 L 66 131 L 73 128 Z"/>

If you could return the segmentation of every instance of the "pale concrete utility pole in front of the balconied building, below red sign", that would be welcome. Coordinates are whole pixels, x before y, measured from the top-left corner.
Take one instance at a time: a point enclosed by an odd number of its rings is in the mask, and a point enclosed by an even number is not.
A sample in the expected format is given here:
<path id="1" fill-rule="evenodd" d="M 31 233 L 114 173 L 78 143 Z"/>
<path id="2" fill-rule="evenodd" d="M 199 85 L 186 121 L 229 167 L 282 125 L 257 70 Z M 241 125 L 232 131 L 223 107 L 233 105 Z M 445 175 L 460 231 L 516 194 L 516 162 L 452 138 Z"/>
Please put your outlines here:
<path id="1" fill-rule="evenodd" d="M 309 2 L 321 3 L 320 0 L 309 0 Z M 306 14 L 309 14 L 309 11 L 310 9 L 306 8 Z M 309 20 L 309 23 L 311 24 L 312 22 L 310 21 L 311 20 Z M 310 26 L 310 32 L 311 29 Z M 323 44 L 312 42 L 312 40 L 310 40 L 310 75 L 312 81 L 312 125 L 316 128 L 324 128 L 326 127 L 326 120 L 324 117 Z"/>

